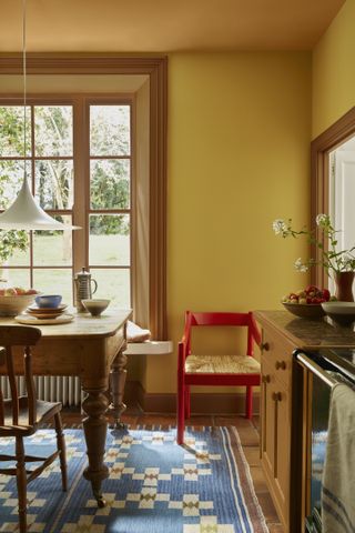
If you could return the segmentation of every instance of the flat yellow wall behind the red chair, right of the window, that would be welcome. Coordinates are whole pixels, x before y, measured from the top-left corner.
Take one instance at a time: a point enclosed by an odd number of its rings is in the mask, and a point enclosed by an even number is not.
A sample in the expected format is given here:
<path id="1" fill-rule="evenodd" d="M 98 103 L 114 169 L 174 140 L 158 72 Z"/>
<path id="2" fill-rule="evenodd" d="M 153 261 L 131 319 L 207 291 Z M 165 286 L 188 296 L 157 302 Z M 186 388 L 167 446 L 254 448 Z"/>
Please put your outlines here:
<path id="1" fill-rule="evenodd" d="M 307 223 L 311 54 L 169 58 L 169 336 L 192 310 L 275 309 L 302 288 L 302 241 L 272 221 Z M 149 392 L 172 392 L 176 353 L 149 358 Z"/>

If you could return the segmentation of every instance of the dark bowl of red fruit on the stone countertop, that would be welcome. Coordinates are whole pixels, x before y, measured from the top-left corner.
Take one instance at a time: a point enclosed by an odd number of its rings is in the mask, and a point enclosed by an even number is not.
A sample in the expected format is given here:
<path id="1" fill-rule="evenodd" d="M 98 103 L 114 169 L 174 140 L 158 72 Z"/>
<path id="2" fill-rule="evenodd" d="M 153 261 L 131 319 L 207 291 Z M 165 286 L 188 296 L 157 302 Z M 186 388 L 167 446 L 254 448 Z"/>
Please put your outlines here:
<path id="1" fill-rule="evenodd" d="M 322 303 L 331 300 L 327 289 L 318 289 L 316 285 L 308 285 L 306 289 L 290 292 L 282 299 L 283 306 L 290 313 L 303 319 L 322 319 L 325 311 Z"/>

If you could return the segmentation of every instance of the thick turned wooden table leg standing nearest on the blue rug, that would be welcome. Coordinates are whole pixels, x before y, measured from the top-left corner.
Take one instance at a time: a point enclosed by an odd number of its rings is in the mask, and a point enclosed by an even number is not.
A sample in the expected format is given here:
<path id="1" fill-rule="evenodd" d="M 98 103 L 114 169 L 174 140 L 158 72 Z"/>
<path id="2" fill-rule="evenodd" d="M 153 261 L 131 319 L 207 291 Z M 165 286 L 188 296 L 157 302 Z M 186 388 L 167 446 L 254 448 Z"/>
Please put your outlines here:
<path id="1" fill-rule="evenodd" d="M 89 465 L 84 470 L 84 477 L 91 482 L 98 506 L 104 507 L 105 501 L 102 497 L 101 482 L 109 476 L 109 469 L 103 463 L 108 430 L 105 412 L 109 402 L 104 390 L 87 389 L 84 384 L 83 390 L 88 394 L 82 403 L 82 409 L 88 415 L 83 420 L 83 429 L 89 459 Z"/>

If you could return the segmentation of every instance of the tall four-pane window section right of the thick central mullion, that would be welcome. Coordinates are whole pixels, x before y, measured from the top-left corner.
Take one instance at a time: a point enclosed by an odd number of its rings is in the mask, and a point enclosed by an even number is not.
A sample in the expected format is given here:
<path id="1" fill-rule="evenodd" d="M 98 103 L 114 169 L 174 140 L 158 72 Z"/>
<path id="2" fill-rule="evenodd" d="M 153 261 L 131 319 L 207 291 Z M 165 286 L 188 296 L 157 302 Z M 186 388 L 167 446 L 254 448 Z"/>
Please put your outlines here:
<path id="1" fill-rule="evenodd" d="M 88 264 L 99 290 L 131 306 L 131 105 L 89 104 Z"/>

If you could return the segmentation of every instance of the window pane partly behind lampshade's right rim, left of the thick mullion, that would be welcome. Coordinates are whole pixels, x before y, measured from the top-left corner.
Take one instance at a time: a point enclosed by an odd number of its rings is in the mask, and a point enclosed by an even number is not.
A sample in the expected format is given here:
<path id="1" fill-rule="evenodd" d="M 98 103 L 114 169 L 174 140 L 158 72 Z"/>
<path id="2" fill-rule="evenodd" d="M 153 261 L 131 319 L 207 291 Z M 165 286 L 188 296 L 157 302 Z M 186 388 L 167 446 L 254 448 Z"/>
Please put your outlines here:
<path id="1" fill-rule="evenodd" d="M 71 224 L 71 217 L 54 217 L 60 222 Z M 33 264 L 57 266 L 72 264 L 72 231 L 34 231 Z"/>

